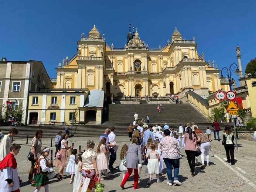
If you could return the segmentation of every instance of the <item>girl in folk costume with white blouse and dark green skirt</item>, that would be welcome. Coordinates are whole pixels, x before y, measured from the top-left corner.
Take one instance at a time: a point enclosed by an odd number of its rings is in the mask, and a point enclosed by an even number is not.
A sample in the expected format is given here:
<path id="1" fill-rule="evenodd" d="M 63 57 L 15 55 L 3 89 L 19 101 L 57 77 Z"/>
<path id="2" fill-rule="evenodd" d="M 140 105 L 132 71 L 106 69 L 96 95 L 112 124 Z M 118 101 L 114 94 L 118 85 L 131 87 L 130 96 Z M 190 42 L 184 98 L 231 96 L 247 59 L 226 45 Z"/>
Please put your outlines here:
<path id="1" fill-rule="evenodd" d="M 35 178 L 33 182 L 31 183 L 31 186 L 36 187 L 35 192 L 39 192 L 41 187 L 44 186 L 44 191 L 49 192 L 49 179 L 47 175 L 49 172 L 53 171 L 53 168 L 51 168 L 50 160 L 47 158 L 49 155 L 50 149 L 47 147 L 44 147 L 40 152 L 38 156 L 38 168 L 37 168 L 37 174 L 35 175 Z"/>

